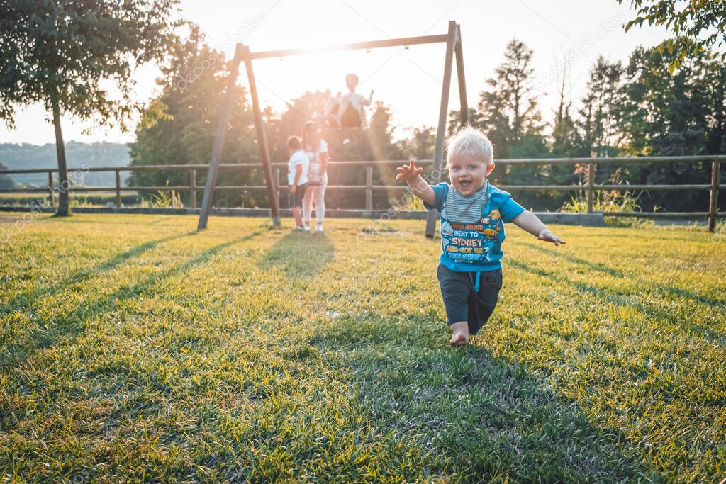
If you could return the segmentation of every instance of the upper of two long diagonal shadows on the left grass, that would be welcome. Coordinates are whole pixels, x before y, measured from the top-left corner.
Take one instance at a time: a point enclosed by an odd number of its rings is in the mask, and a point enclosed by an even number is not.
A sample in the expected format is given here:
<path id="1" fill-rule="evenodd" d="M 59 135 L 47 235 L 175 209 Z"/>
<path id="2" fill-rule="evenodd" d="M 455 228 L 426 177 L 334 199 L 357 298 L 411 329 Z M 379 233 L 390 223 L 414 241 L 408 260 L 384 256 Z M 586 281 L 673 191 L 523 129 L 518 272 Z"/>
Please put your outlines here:
<path id="1" fill-rule="evenodd" d="M 40 296 L 57 295 L 58 292 L 68 289 L 68 286 L 70 285 L 86 282 L 94 276 L 99 276 L 100 274 L 109 271 L 110 269 L 120 266 L 121 263 L 128 261 L 130 258 L 141 255 L 147 250 L 151 250 L 154 247 L 163 244 L 164 242 L 181 239 L 195 233 L 195 231 L 189 231 L 186 234 L 173 235 L 170 237 L 164 237 L 163 239 L 150 240 L 149 242 L 144 242 L 142 245 L 138 245 L 130 250 L 126 250 L 123 253 L 117 254 L 113 256 L 113 258 L 110 258 L 108 261 L 97 264 L 96 266 L 90 268 L 80 268 L 76 271 L 73 271 L 70 276 L 66 277 L 61 282 L 58 282 L 51 287 L 36 287 L 33 290 L 26 291 L 15 296 L 15 298 L 7 302 L 4 308 L 0 308 L 0 314 L 7 314 L 11 313 L 12 311 L 20 311 L 20 309 L 25 308 L 29 303 L 32 303 L 33 300 Z"/>

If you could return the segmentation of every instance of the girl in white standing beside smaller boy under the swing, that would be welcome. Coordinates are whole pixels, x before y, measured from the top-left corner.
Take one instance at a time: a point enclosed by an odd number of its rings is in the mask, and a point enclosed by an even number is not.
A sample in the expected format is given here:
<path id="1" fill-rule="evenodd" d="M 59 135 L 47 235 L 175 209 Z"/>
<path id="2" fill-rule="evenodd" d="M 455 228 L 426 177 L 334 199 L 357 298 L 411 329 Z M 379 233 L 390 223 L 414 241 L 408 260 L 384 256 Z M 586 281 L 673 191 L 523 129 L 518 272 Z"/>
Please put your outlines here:
<path id="1" fill-rule="evenodd" d="M 325 221 L 325 189 L 327 188 L 327 144 L 320 136 L 317 123 L 308 121 L 303 126 L 303 151 L 308 156 L 308 189 L 303 197 L 303 222 L 310 226 L 315 205 L 317 224 L 315 231 L 322 232 Z"/>

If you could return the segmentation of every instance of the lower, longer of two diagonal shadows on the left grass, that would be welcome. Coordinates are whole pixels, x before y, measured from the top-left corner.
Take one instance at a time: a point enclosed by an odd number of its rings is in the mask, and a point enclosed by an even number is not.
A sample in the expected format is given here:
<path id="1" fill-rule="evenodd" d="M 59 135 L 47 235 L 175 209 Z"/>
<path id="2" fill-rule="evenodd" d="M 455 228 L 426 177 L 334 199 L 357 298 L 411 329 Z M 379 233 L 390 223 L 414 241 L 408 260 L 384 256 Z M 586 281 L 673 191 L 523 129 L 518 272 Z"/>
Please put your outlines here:
<path id="1" fill-rule="evenodd" d="M 253 239 L 259 234 L 261 232 L 256 231 L 245 237 L 238 237 L 237 239 L 210 247 L 184 263 L 169 268 L 166 271 L 159 271 L 147 277 L 147 279 L 135 282 L 134 284 L 119 287 L 118 290 L 115 290 L 115 292 L 109 295 L 102 295 L 98 298 L 86 298 L 76 308 L 66 313 L 56 314 L 46 324 L 41 322 L 41 324 L 30 329 L 30 337 L 7 342 L 0 352 L 0 369 L 8 368 L 30 358 L 38 351 L 52 347 L 59 340 L 63 340 L 65 344 L 70 344 L 71 340 L 80 336 L 83 330 L 88 327 L 89 320 L 97 321 L 102 319 L 105 314 L 114 311 L 119 302 L 152 294 L 155 284 L 177 274 L 184 273 L 189 269 L 196 268 L 209 261 L 209 259 L 221 252 L 221 250 Z"/>

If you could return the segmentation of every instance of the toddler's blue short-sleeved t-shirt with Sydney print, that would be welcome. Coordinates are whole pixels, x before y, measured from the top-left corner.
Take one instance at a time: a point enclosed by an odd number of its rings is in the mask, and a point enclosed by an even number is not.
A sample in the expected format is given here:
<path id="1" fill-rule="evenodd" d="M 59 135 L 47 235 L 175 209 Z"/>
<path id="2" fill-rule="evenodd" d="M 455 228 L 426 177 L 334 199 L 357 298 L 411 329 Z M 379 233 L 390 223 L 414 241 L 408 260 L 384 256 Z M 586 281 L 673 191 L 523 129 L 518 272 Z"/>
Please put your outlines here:
<path id="1" fill-rule="evenodd" d="M 511 222 L 524 211 L 512 196 L 495 186 L 489 186 L 489 200 L 481 210 L 479 223 L 455 223 L 446 219 L 447 183 L 431 186 L 436 194 L 432 205 L 441 216 L 441 265 L 458 272 L 494 271 L 502 264 L 504 223 Z"/>

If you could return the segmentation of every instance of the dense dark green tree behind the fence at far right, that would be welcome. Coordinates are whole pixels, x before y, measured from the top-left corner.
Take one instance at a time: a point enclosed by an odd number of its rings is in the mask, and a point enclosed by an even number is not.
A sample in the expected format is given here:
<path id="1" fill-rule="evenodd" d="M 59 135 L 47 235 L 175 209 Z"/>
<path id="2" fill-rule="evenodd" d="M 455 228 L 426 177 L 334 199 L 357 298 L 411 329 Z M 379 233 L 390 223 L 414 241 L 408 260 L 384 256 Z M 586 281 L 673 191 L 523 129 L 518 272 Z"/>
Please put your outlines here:
<path id="1" fill-rule="evenodd" d="M 725 145 L 726 67 L 708 52 L 685 60 L 668 75 L 669 53 L 639 47 L 630 56 L 619 105 L 621 147 L 628 155 L 715 155 Z M 707 184 L 710 164 L 657 164 L 629 168 L 646 184 Z M 677 197 L 674 197 L 677 193 Z M 669 210 L 703 210 L 707 192 L 652 192 L 643 201 Z"/>

